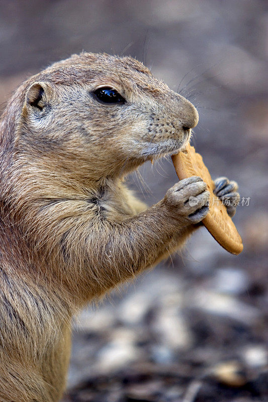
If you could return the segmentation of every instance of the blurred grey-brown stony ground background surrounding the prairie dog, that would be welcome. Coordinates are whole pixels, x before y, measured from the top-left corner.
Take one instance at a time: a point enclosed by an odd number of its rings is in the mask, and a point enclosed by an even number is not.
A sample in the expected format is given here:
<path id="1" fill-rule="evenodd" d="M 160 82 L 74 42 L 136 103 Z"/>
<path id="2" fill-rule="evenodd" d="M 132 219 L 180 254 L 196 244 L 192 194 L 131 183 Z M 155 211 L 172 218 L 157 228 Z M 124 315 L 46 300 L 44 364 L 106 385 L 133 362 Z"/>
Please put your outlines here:
<path id="1" fill-rule="evenodd" d="M 29 75 L 82 50 L 143 61 L 197 106 L 193 144 L 212 177 L 239 183 L 233 256 L 202 228 L 184 251 L 74 320 L 64 402 L 268 400 L 267 2 L 0 1 L 0 103 Z M 129 185 L 151 205 L 170 160 Z M 242 198 L 243 199 L 243 198 Z"/>

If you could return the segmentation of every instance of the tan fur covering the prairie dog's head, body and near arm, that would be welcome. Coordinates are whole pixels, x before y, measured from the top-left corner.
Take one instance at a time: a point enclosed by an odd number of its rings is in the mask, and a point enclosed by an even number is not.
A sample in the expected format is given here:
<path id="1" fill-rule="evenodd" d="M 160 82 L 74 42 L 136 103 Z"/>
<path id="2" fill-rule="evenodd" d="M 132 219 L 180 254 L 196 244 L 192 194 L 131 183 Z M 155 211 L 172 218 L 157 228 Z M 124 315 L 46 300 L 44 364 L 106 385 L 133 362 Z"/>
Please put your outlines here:
<path id="1" fill-rule="evenodd" d="M 115 87 L 123 105 L 93 91 Z M 34 105 L 40 88 L 39 105 Z M 175 184 L 146 208 L 124 176 L 172 154 L 198 122 L 193 105 L 131 57 L 83 53 L 29 78 L 1 121 L 0 400 L 52 402 L 63 392 L 70 319 L 85 303 L 180 247 L 204 216 Z"/>

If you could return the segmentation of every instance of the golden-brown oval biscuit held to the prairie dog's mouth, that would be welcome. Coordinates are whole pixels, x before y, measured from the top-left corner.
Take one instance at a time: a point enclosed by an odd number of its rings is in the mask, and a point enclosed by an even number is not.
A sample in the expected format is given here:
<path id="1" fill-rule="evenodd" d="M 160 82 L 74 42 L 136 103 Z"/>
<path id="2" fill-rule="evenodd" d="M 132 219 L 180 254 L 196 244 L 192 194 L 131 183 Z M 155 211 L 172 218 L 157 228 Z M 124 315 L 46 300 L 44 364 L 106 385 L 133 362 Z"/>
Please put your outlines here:
<path id="1" fill-rule="evenodd" d="M 191 176 L 200 176 L 208 186 L 210 192 L 210 208 L 202 223 L 208 229 L 214 239 L 232 254 L 239 254 L 243 250 L 242 239 L 232 219 L 227 214 L 226 207 L 214 194 L 214 181 L 205 166 L 202 156 L 195 151 L 190 144 L 172 156 L 172 162 L 180 180 Z"/>

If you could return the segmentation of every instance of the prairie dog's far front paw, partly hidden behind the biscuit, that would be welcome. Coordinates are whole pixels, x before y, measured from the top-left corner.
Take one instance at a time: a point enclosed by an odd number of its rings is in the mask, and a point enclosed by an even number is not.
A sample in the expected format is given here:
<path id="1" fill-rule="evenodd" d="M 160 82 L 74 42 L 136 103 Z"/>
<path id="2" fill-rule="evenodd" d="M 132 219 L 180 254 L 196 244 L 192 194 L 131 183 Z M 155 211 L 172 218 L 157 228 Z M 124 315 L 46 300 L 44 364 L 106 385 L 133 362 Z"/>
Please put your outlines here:
<path id="1" fill-rule="evenodd" d="M 227 209 L 228 215 L 232 218 L 240 201 L 236 181 L 229 181 L 227 177 L 218 177 L 216 180 L 214 180 L 214 183 L 214 194 L 222 200 Z"/>

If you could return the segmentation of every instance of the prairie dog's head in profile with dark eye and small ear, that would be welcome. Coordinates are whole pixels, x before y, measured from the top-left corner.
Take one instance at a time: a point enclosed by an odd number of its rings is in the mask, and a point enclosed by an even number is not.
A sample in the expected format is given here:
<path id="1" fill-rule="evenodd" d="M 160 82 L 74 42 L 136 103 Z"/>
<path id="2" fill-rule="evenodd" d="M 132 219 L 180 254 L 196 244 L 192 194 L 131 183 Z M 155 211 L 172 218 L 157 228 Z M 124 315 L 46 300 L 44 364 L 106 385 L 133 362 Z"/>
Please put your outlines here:
<path id="1" fill-rule="evenodd" d="M 73 55 L 19 90 L 17 149 L 96 179 L 176 153 L 198 123 L 187 99 L 131 57 Z"/>

